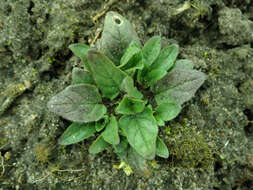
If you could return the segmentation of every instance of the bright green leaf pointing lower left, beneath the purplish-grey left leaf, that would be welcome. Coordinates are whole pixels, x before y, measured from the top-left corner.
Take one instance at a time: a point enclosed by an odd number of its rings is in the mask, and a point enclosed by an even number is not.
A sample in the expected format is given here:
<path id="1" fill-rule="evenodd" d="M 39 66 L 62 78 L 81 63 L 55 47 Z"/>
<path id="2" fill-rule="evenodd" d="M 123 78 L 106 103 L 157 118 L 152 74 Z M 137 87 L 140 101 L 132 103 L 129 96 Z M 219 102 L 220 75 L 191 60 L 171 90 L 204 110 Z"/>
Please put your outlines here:
<path id="1" fill-rule="evenodd" d="M 60 145 L 69 145 L 89 138 L 96 132 L 94 123 L 72 123 L 62 134 Z"/>

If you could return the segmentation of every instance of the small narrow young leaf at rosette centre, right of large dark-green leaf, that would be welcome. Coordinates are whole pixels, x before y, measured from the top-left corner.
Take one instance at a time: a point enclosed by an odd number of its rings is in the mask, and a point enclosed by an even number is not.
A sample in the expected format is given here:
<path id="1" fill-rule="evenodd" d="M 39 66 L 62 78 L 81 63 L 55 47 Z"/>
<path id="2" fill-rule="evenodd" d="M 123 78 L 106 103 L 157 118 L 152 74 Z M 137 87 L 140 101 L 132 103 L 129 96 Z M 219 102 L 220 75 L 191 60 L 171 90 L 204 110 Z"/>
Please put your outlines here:
<path id="1" fill-rule="evenodd" d="M 123 82 L 121 89 L 127 93 L 128 96 L 136 98 L 136 99 L 142 99 L 143 94 L 137 90 L 137 88 L 134 86 L 134 81 L 131 77 L 127 76 Z"/>

